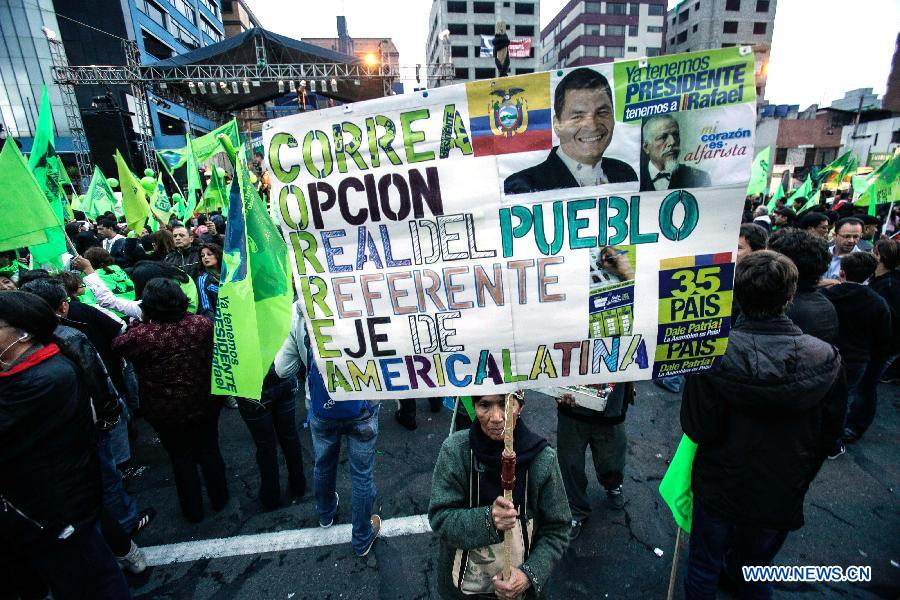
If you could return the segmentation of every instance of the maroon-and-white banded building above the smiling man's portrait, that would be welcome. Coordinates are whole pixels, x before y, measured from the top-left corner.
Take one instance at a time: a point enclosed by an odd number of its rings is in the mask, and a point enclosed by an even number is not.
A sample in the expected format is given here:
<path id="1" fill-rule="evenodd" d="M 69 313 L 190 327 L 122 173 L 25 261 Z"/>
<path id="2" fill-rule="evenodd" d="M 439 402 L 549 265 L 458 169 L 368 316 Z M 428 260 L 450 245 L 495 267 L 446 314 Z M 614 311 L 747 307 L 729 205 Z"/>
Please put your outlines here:
<path id="1" fill-rule="evenodd" d="M 541 71 L 659 56 L 665 34 L 665 0 L 570 0 L 541 30 Z"/>

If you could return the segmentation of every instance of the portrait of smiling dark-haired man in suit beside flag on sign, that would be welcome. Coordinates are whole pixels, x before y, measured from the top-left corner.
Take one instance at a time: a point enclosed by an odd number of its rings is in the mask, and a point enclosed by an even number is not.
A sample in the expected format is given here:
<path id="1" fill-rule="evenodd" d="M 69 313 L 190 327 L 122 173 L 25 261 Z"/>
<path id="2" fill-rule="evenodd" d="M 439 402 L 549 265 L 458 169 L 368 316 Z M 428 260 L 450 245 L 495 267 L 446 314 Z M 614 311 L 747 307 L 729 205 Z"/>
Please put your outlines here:
<path id="1" fill-rule="evenodd" d="M 553 96 L 553 130 L 559 146 L 544 162 L 507 177 L 504 193 L 637 181 L 634 169 L 626 163 L 603 156 L 615 123 L 606 77 L 593 69 L 575 69 L 563 77 Z"/>

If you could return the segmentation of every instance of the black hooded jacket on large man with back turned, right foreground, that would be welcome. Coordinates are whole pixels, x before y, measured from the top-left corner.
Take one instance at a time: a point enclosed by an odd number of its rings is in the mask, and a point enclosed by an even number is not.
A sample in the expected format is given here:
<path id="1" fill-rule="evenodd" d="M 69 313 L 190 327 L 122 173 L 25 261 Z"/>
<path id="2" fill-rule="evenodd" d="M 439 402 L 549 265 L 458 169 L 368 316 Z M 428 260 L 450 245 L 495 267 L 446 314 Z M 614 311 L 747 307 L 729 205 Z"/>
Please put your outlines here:
<path id="1" fill-rule="evenodd" d="M 799 529 L 843 424 L 842 364 L 787 317 L 739 320 L 720 368 L 685 383 L 681 426 L 699 444 L 694 501 L 731 523 Z"/>

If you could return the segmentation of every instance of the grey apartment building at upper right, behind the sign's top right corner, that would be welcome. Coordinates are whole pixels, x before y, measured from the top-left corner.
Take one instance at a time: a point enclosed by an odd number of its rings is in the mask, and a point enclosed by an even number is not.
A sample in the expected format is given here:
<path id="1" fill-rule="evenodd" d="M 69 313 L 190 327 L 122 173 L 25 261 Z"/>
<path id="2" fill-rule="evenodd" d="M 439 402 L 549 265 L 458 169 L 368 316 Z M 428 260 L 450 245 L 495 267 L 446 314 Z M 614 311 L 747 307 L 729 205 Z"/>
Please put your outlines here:
<path id="1" fill-rule="evenodd" d="M 666 15 L 665 52 L 753 46 L 756 97 L 765 97 L 777 0 L 683 0 Z"/>

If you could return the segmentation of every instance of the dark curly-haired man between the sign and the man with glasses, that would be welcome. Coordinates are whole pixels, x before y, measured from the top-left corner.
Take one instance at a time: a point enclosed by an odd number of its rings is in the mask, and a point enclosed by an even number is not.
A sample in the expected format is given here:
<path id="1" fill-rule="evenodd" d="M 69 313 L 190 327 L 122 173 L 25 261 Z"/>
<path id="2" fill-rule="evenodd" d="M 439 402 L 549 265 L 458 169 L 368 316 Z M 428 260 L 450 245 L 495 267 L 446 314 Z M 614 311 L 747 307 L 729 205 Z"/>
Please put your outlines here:
<path id="1" fill-rule="evenodd" d="M 831 261 L 828 242 L 808 231 L 788 227 L 772 235 L 769 249 L 791 259 L 799 274 L 797 295 L 788 307 L 788 318 L 803 333 L 837 344 L 837 311 L 816 285 Z"/>

